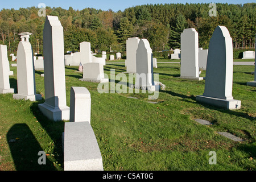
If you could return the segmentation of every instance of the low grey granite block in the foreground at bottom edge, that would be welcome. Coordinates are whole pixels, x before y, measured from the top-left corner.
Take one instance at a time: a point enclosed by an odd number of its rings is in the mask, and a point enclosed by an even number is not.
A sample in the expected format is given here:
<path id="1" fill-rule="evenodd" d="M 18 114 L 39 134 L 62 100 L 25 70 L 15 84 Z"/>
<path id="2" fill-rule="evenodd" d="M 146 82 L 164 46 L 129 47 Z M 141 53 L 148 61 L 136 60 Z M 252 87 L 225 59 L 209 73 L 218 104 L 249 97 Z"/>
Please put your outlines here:
<path id="1" fill-rule="evenodd" d="M 65 122 L 64 171 L 103 171 L 102 156 L 89 122 Z"/>

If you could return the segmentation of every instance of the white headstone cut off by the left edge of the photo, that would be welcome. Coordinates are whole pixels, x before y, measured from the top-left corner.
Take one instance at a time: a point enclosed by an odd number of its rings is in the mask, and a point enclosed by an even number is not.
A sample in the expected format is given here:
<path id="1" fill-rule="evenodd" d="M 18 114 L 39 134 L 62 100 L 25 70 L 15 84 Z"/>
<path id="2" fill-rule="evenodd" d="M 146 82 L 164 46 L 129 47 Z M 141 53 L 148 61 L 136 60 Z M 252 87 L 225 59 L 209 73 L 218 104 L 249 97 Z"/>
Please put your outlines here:
<path id="1" fill-rule="evenodd" d="M 10 88 L 9 80 L 9 61 L 7 57 L 7 46 L 0 45 L 0 94 L 14 93 Z M 9 68 L 9 69 L 8 69 Z"/>

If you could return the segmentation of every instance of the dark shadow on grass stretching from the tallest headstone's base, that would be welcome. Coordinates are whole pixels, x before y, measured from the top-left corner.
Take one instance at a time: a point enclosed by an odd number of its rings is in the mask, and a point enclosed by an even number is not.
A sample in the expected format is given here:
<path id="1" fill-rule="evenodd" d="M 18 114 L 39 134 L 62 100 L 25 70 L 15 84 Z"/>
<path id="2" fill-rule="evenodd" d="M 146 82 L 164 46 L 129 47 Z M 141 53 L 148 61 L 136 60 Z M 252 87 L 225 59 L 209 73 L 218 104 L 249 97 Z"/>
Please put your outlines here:
<path id="1" fill-rule="evenodd" d="M 40 125 L 43 129 L 47 132 L 48 136 L 52 139 L 54 148 L 53 151 L 50 151 L 53 154 L 53 158 L 61 164 L 63 167 L 64 163 L 64 156 L 63 156 L 63 148 L 62 148 L 62 133 L 64 132 L 64 121 L 52 121 L 48 119 L 43 113 L 39 110 L 38 105 L 43 104 L 44 99 L 39 102 L 34 102 L 30 106 L 30 110 L 32 111 L 33 115 L 36 117 Z M 51 170 L 51 168 L 49 168 Z"/>

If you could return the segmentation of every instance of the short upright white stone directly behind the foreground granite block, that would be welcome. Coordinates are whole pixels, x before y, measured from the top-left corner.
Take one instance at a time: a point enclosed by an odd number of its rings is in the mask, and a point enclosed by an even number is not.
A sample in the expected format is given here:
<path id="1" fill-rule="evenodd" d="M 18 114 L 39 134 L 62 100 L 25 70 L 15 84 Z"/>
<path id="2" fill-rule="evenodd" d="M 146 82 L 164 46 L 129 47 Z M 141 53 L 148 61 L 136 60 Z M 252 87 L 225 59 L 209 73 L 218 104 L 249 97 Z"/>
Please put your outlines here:
<path id="1" fill-rule="evenodd" d="M 90 92 L 85 87 L 72 86 L 70 92 L 70 122 L 90 123 Z"/>

